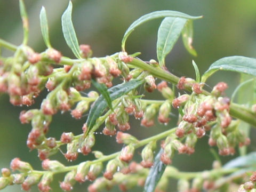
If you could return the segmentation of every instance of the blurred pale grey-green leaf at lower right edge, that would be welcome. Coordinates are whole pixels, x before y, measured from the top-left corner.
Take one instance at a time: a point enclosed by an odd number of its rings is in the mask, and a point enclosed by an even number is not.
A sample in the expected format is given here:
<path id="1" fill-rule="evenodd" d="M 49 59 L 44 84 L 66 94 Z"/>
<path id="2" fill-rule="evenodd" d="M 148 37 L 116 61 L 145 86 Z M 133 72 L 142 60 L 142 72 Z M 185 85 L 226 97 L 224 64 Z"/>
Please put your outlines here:
<path id="1" fill-rule="evenodd" d="M 223 168 L 226 169 L 235 167 L 256 167 L 256 152 L 247 154 L 246 156 L 237 157 L 223 165 Z"/>

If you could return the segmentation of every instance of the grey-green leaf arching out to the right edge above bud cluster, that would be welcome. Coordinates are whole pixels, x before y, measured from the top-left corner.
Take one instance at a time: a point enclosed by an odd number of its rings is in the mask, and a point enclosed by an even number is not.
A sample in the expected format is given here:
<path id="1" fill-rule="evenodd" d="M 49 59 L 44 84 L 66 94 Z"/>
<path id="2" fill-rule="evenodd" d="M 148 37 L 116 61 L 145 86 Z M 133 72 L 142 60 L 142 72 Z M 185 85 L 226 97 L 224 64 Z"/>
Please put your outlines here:
<path id="1" fill-rule="evenodd" d="M 229 70 L 238 73 L 256 76 L 256 59 L 243 56 L 231 56 L 219 59 L 212 63 L 210 68 L 202 76 L 202 82 L 218 70 Z"/>

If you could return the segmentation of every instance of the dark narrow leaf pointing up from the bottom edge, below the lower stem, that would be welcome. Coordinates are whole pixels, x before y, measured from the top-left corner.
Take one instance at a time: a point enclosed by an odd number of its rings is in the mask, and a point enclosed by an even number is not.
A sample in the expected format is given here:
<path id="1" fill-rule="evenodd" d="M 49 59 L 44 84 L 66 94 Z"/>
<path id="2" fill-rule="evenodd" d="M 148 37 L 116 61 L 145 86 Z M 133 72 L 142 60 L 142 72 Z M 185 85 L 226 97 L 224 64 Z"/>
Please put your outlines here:
<path id="1" fill-rule="evenodd" d="M 155 157 L 154 165 L 151 167 L 145 182 L 144 192 L 153 192 L 164 173 L 166 165 L 160 160 L 162 153 L 163 149 L 161 149 Z"/>

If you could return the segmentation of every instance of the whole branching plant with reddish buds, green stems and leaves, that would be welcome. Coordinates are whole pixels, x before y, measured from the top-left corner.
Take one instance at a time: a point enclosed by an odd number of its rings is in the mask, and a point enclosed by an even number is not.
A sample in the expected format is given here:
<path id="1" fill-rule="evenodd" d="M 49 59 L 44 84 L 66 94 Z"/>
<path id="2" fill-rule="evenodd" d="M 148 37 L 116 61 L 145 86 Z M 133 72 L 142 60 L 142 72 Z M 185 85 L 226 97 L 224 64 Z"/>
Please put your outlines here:
<path id="1" fill-rule="evenodd" d="M 9 94 L 10 102 L 15 106 L 31 106 L 34 98 L 45 87 L 48 90 L 49 93 L 42 101 L 40 109 L 30 109 L 20 113 L 22 124 L 31 123 L 32 129 L 28 134 L 27 146 L 31 150 L 37 149 L 44 171 L 34 170 L 29 163 L 14 158 L 10 167 L 17 173 L 11 173 L 7 168 L 2 169 L 0 189 L 15 183 L 21 184 L 22 189 L 26 191 L 32 185 L 38 185 L 40 191 L 47 192 L 51 190 L 53 175 L 58 173 L 66 173 L 65 178 L 60 182 L 63 190 L 70 191 L 76 182 L 89 180 L 93 181 L 88 188 L 90 192 L 111 189 L 114 185 L 119 185 L 122 191 L 137 185 L 145 186 L 145 191 L 166 191 L 168 178 L 178 180 L 178 191 L 201 191 L 201 189 L 221 191 L 223 186 L 232 183 L 236 177 L 245 177 L 245 172 L 249 171 L 244 169 L 246 166 L 242 166 L 243 170 L 239 168 L 240 166 L 222 167 L 219 161 L 213 163 L 212 170 L 203 172 L 180 172 L 170 166 L 176 152 L 193 154 L 197 140 L 204 137 L 206 132 L 210 135 L 209 145 L 217 146 L 219 155 L 233 155 L 237 146 L 250 144 L 249 135 L 239 129 L 241 121 L 256 125 L 255 105 L 246 108 L 231 102 L 223 94 L 228 87 L 226 83 L 218 83 L 211 92 L 203 89 L 207 77 L 218 69 L 253 74 L 250 72 L 253 69 L 248 66 L 243 66 L 248 70 L 242 71 L 230 67 L 226 62 L 234 61 L 234 65 L 239 66 L 241 64 L 239 59 L 243 57 L 223 58 L 213 63 L 202 78 L 193 61 L 196 80 L 179 78 L 166 69 L 164 58 L 171 51 L 180 34 L 186 49 L 196 55 L 191 46 L 192 21 L 200 17 L 191 17 L 175 11 L 157 11 L 144 15 L 127 29 L 122 42 L 122 52 L 107 57 L 92 58 L 89 45 L 78 46 L 71 22 L 70 2 L 62 15 L 63 34 L 68 46 L 77 57 L 70 59 L 63 57 L 51 46 L 44 8 L 40 19 L 47 49 L 42 53 L 36 53 L 28 46 L 28 18 L 22 0 L 20 0 L 20 9 L 24 29 L 22 44 L 15 46 L 0 39 L 1 46 L 14 52 L 12 57 L 1 57 L 0 92 Z M 159 64 L 155 60 L 142 61 L 137 58 L 137 53 L 128 55 L 125 52 L 125 41 L 131 31 L 141 23 L 155 18 L 165 18 L 158 31 Z M 174 26 L 175 30 L 170 28 L 170 25 Z M 244 58 L 244 60 L 255 63 L 252 58 Z M 113 85 L 113 78 L 121 79 L 122 83 Z M 162 82 L 156 84 L 156 78 L 162 79 Z M 175 87 L 171 88 L 170 84 L 176 85 L 178 90 L 187 90 L 191 93 L 175 96 Z M 86 92 L 91 85 L 98 92 Z M 138 95 L 137 91 L 142 85 L 149 93 L 157 89 L 162 93 L 163 99 L 142 99 L 143 95 Z M 153 126 L 156 116 L 159 123 L 167 125 L 173 109 L 178 109 L 179 112 L 177 127 L 143 140 L 125 133 L 132 129 L 129 124 L 130 115 L 141 119 L 142 126 Z M 86 111 L 89 111 L 89 116 L 81 127 L 81 134 L 65 132 L 60 136 L 60 140 L 47 138 L 46 133 L 49 131 L 52 116 L 58 111 L 70 112 L 76 119 L 81 119 Z M 110 155 L 92 151 L 94 143 L 97 142 L 94 132 L 101 125 L 105 125 L 103 134 L 115 135 L 117 143 L 124 143 L 121 151 Z M 162 149 L 154 157 L 160 140 L 163 140 Z M 75 161 L 78 154 L 89 153 L 94 153 L 95 159 L 74 166 L 65 166 L 58 161 L 50 160 L 63 145 L 67 147 L 64 156 L 68 161 Z M 143 147 L 141 162 L 131 162 L 134 150 L 140 147 Z M 106 162 L 105 167 L 102 164 L 104 162 Z M 232 173 L 236 173 L 236 177 L 233 177 Z M 254 178 L 255 173 L 252 174 L 251 181 L 241 185 L 238 191 L 254 191 L 256 181 Z"/>

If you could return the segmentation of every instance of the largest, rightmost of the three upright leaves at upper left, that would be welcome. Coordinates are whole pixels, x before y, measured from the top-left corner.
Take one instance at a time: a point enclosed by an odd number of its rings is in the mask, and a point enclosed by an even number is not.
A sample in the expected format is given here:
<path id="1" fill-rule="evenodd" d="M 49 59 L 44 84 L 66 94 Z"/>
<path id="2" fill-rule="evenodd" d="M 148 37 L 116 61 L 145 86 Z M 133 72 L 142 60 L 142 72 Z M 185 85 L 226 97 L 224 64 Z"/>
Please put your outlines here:
<path id="1" fill-rule="evenodd" d="M 76 32 L 72 23 L 72 2 L 69 1 L 68 7 L 65 12 L 62 14 L 61 17 L 61 25 L 62 25 L 62 32 L 66 43 L 68 44 L 69 48 L 73 51 L 74 55 L 81 59 L 81 55 L 79 54 L 79 45 L 76 38 Z"/>

